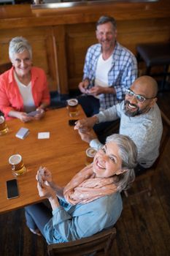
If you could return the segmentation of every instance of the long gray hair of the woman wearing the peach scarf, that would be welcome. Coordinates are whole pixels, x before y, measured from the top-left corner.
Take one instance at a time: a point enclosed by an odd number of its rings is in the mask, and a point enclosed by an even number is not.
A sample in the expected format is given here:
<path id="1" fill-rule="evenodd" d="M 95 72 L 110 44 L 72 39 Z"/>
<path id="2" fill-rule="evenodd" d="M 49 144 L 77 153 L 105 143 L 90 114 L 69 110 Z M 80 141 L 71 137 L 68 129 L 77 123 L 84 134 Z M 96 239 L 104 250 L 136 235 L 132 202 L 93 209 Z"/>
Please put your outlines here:
<path id="1" fill-rule="evenodd" d="M 137 148 L 133 140 L 125 135 L 114 134 L 107 137 L 106 143 L 115 142 L 119 148 L 119 155 L 122 159 L 122 169 L 124 173 L 117 175 L 117 190 L 128 189 L 134 181 L 134 167 L 137 165 Z"/>

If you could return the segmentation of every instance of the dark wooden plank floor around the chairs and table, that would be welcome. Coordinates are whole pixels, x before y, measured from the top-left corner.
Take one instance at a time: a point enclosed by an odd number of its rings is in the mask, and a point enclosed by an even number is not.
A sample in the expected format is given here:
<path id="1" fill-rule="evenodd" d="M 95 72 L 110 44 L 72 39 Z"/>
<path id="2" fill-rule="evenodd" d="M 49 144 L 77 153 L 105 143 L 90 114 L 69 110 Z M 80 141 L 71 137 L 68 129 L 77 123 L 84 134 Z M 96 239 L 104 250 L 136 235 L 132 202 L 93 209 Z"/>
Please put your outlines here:
<path id="1" fill-rule="evenodd" d="M 170 93 L 159 94 L 158 105 L 170 118 Z M 116 224 L 114 256 L 170 255 L 170 143 L 161 176 L 152 197 L 147 194 L 123 197 L 123 214 Z M 30 233 L 23 209 L 0 216 L 0 255 L 47 256 L 47 245 Z"/>

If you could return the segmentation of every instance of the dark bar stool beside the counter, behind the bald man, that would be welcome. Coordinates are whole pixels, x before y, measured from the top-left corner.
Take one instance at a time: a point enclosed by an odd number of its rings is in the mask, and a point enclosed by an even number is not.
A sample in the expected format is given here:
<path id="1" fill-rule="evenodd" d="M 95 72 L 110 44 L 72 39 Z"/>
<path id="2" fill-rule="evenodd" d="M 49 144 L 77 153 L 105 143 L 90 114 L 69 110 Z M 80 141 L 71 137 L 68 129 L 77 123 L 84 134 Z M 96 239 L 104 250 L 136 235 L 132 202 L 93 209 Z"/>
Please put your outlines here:
<path id="1" fill-rule="evenodd" d="M 145 75 L 163 76 L 161 90 L 166 84 L 166 78 L 170 75 L 170 42 L 140 44 L 136 47 L 137 61 L 144 61 L 146 64 Z M 163 66 L 163 72 L 152 73 L 151 69 L 155 66 Z"/>

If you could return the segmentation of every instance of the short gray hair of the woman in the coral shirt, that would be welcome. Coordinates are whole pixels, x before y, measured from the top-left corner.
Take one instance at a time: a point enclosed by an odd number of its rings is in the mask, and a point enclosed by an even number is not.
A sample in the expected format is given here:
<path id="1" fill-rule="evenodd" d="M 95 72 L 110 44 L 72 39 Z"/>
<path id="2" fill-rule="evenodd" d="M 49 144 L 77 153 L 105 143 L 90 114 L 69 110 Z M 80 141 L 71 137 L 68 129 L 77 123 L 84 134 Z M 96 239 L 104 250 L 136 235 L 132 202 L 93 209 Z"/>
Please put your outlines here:
<path id="1" fill-rule="evenodd" d="M 15 53 L 23 53 L 24 50 L 28 50 L 30 58 L 32 59 L 32 48 L 28 40 L 24 37 L 14 37 L 9 42 L 9 58 L 13 58 Z"/>

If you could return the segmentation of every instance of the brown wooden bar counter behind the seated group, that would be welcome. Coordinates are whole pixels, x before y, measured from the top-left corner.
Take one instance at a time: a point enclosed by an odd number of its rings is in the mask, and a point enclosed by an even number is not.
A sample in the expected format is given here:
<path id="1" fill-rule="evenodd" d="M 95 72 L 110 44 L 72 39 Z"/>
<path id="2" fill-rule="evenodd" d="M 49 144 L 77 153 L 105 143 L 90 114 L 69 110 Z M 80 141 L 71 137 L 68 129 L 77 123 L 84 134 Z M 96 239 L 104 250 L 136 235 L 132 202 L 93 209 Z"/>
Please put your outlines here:
<path id="1" fill-rule="evenodd" d="M 0 7 L 0 64 L 9 61 L 9 40 L 26 37 L 34 65 L 45 69 L 51 91 L 67 94 L 77 89 L 86 50 L 96 43 L 95 23 L 101 15 L 117 20 L 117 40 L 134 54 L 139 43 L 170 39 L 169 0 L 58 4 Z"/>

